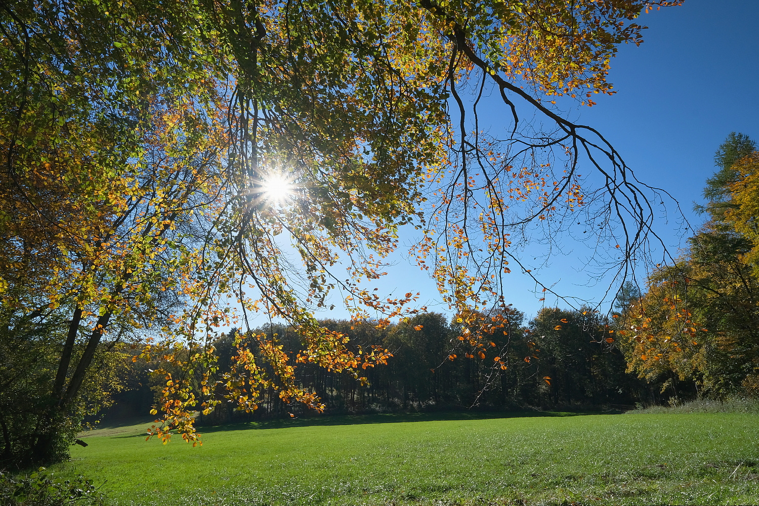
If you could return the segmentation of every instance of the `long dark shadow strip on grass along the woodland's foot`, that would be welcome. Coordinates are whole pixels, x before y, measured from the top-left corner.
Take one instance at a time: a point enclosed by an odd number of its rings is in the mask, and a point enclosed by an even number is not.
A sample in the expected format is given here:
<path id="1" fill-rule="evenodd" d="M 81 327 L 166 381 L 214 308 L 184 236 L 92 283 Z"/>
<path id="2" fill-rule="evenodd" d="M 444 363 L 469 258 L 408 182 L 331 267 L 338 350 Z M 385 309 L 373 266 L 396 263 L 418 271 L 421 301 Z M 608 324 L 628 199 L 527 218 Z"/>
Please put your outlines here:
<path id="1" fill-rule="evenodd" d="M 368 415 L 317 415 L 288 420 L 261 420 L 256 422 L 228 423 L 223 425 L 199 425 L 202 433 L 249 429 L 285 429 L 288 427 L 364 425 L 367 423 L 408 423 L 455 420 L 493 420 L 501 418 L 527 418 L 531 416 L 583 416 L 620 414 L 622 411 L 434 411 L 430 413 L 386 413 Z"/>

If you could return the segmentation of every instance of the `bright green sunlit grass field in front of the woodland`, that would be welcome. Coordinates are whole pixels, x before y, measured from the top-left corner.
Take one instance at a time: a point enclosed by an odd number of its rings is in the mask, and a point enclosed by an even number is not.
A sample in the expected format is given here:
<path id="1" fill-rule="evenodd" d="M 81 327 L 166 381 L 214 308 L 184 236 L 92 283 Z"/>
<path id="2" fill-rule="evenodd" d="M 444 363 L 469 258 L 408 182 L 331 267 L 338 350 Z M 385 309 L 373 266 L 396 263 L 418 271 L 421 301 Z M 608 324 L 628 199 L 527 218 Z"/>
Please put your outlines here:
<path id="1" fill-rule="evenodd" d="M 759 504 L 746 413 L 323 417 L 206 429 L 202 448 L 90 433 L 52 467 L 112 504 Z"/>

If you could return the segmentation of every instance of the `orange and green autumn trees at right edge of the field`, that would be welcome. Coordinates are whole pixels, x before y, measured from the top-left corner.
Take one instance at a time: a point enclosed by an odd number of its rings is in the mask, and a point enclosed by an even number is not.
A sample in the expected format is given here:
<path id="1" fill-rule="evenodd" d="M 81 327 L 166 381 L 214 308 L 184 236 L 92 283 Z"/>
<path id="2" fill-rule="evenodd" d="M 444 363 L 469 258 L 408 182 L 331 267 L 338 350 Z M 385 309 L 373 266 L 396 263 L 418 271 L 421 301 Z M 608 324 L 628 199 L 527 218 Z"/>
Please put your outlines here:
<path id="1" fill-rule="evenodd" d="M 710 220 L 688 239 L 688 252 L 656 269 L 647 292 L 625 310 L 629 369 L 675 392 L 678 382 L 714 396 L 756 391 L 754 149 L 743 134 L 727 137 L 704 188 L 707 203 L 697 207 Z"/>

